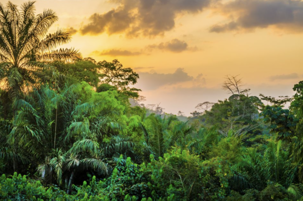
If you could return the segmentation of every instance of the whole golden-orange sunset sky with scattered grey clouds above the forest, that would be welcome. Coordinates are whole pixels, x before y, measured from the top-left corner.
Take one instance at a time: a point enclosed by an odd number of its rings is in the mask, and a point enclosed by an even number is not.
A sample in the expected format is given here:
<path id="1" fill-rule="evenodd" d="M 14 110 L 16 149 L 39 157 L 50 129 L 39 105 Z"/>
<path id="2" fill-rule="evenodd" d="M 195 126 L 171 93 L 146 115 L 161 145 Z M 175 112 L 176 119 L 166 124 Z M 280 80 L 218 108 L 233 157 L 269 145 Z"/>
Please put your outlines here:
<path id="1" fill-rule="evenodd" d="M 0 0 L 5 4 L 7 1 Z M 12 0 L 21 5 L 24 0 Z M 227 75 L 251 96 L 292 96 L 303 80 L 301 0 L 37 0 L 54 10 L 50 32 L 97 61 L 118 59 L 140 75 L 147 104 L 190 115 L 199 103 L 228 98 Z"/>

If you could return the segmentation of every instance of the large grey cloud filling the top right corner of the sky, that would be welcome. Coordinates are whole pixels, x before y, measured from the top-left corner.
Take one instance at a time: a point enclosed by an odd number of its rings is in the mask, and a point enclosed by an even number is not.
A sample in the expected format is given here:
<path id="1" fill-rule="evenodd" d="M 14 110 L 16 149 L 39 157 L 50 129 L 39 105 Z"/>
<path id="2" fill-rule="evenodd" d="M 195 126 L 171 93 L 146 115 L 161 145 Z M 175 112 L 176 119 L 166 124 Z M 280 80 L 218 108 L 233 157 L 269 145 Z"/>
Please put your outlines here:
<path id="1" fill-rule="evenodd" d="M 217 7 L 229 22 L 215 24 L 210 32 L 253 31 L 274 27 L 288 32 L 303 31 L 303 2 L 296 0 L 235 0 Z"/>

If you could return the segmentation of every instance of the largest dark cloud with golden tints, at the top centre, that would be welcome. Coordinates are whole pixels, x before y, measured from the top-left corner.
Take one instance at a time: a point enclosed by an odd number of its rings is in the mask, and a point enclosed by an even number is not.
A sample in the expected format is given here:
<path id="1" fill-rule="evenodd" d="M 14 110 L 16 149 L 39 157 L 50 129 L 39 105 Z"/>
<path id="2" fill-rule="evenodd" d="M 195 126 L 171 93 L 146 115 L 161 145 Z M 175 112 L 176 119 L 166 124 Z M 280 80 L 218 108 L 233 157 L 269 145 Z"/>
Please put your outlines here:
<path id="1" fill-rule="evenodd" d="M 81 34 L 126 33 L 128 37 L 163 35 L 175 27 L 178 14 L 194 14 L 208 7 L 211 0 L 112 0 L 119 6 L 95 13 Z"/>

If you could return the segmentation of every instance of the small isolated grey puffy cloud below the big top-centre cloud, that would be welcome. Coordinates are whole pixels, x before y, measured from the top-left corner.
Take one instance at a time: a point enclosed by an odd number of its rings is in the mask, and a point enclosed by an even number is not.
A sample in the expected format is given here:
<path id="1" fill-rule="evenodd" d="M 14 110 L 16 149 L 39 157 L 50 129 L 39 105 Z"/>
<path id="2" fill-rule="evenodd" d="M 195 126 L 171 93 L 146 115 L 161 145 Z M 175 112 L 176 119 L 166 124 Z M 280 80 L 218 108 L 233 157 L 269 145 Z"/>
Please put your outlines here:
<path id="1" fill-rule="evenodd" d="M 185 41 L 180 41 L 179 39 L 173 39 L 166 43 L 160 43 L 160 44 L 153 44 L 149 45 L 148 49 L 160 49 L 160 50 L 168 50 L 175 53 L 180 53 L 185 50 L 192 50 L 195 51 L 198 48 L 197 47 L 188 47 L 188 44 Z"/>

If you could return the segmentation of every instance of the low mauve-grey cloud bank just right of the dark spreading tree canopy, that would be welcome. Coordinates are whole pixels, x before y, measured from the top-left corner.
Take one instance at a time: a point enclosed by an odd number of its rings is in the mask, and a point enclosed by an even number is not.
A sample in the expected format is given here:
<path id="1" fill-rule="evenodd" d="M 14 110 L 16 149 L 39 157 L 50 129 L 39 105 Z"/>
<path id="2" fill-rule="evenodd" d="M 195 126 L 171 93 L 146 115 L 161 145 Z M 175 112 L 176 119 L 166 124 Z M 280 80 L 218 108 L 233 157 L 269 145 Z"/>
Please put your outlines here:
<path id="1" fill-rule="evenodd" d="M 154 90 L 161 86 L 172 85 L 176 83 L 186 82 L 193 80 L 192 76 L 184 72 L 184 69 L 178 68 L 175 73 L 150 73 L 138 72 L 140 79 L 138 80 L 137 87 L 142 90 Z"/>

